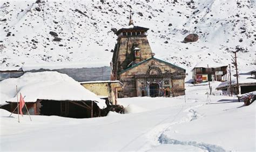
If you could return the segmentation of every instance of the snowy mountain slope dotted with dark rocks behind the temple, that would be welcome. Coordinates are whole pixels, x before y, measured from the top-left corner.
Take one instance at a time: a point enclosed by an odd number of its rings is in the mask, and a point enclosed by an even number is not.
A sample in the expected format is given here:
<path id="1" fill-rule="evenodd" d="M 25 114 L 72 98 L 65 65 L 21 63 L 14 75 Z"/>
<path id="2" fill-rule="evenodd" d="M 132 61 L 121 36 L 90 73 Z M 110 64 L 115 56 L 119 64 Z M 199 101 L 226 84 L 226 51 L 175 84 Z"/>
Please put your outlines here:
<path id="1" fill-rule="evenodd" d="M 127 26 L 132 10 L 134 24 L 150 28 L 160 59 L 190 70 L 205 59 L 230 64 L 231 51 L 239 50 L 240 70 L 255 68 L 253 0 L 35 2 L 1 1 L 1 67 L 90 60 L 109 65 L 117 38 L 111 29 Z M 198 34 L 198 42 L 181 43 L 189 33 Z"/>

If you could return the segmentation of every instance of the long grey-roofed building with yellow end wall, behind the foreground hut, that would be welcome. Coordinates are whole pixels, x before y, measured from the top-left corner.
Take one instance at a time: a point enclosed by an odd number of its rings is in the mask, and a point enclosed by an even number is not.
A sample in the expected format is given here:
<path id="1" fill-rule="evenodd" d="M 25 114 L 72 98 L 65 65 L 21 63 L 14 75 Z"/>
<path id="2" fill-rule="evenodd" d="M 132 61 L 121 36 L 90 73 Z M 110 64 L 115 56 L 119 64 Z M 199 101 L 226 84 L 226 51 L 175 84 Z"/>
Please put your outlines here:
<path id="1" fill-rule="evenodd" d="M 17 67 L 14 69 L 16 70 Z M 21 77 L 21 75 L 24 73 L 28 72 L 35 73 L 44 71 L 56 71 L 59 73 L 67 74 L 69 77 L 80 82 L 80 84 L 83 85 L 86 89 L 89 89 L 99 96 L 104 96 L 104 99 L 108 99 L 113 104 L 117 103 L 117 90 L 122 90 L 122 83 L 111 81 L 110 66 L 106 66 L 103 62 L 100 61 L 87 61 L 86 63 L 25 64 L 22 67 L 19 67 L 19 71 L 16 70 L 16 72 L 7 71 L 3 72 L 3 74 L 1 73 L 1 80 L 8 78 L 18 78 Z M 106 92 L 108 92 L 108 94 L 106 94 Z"/>

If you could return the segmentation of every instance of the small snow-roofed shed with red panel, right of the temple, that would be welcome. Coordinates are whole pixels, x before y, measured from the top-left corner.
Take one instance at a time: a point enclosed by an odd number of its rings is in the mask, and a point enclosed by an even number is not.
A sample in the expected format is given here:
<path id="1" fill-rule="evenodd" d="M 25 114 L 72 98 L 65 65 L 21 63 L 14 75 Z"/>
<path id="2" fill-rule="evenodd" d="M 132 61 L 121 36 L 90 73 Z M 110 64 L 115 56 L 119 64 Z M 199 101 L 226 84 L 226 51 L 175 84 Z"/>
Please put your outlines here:
<path id="1" fill-rule="evenodd" d="M 227 65 L 213 61 L 201 61 L 192 69 L 195 83 L 207 81 L 227 81 Z"/>

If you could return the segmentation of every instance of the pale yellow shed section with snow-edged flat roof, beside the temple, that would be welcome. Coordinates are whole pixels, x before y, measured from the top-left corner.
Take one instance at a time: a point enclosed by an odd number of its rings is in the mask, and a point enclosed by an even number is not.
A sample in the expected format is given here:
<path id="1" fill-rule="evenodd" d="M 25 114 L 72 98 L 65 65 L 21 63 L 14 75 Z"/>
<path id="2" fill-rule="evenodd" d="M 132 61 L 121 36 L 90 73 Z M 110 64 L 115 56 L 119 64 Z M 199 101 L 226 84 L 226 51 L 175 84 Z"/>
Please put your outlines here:
<path id="1" fill-rule="evenodd" d="M 99 96 L 106 96 L 113 105 L 117 105 L 118 92 L 123 90 L 123 83 L 119 80 L 85 81 L 80 84 Z"/>

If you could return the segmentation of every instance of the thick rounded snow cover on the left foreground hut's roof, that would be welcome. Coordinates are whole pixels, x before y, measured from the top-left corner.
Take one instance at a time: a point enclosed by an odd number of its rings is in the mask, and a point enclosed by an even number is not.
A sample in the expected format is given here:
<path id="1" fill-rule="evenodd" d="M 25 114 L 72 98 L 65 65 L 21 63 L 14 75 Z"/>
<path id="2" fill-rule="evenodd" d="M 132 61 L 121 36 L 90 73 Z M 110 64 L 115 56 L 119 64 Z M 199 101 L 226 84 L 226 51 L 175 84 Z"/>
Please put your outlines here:
<path id="1" fill-rule="evenodd" d="M 106 107 L 104 100 L 81 86 L 79 82 L 66 74 L 53 71 L 28 72 L 22 75 L 22 77 L 1 81 L 0 87 L 4 89 L 1 90 L 0 105 L 5 101 L 17 102 L 16 85 L 18 87 L 18 94 L 22 93 L 23 96 L 26 96 L 25 102 L 36 102 L 37 99 L 58 101 L 92 100 L 97 101 L 100 108 Z M 2 94 L 5 99 L 2 98 Z"/>

